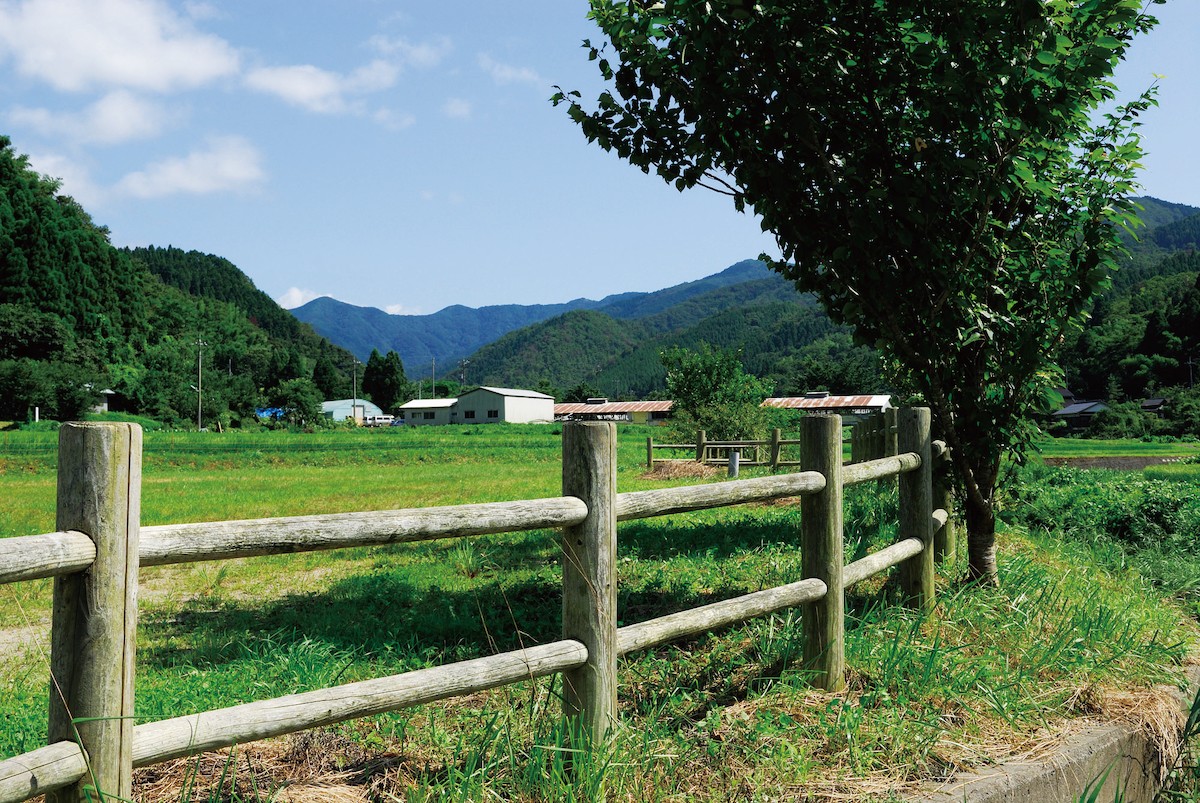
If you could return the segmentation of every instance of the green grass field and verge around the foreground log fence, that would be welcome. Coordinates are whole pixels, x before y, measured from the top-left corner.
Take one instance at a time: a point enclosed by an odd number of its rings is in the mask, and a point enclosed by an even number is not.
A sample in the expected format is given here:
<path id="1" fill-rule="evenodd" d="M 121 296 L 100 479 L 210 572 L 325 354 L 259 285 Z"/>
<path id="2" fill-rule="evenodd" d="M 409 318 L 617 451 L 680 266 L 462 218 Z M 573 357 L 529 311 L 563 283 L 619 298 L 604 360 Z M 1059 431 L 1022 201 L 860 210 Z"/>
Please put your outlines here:
<path id="1" fill-rule="evenodd" d="M 0 535 L 52 531 L 54 436 L 5 435 Z M 618 487 L 689 481 L 647 478 L 644 437 L 620 431 Z M 554 496 L 559 445 L 546 426 L 151 432 L 143 523 Z M 798 517 L 772 504 L 623 525 L 623 623 L 799 579 Z M 894 520 L 894 495 L 851 489 L 847 551 L 888 541 Z M 557 687 L 541 682 L 242 748 L 241 791 L 220 797 L 312 773 L 402 801 L 882 801 L 1045 749 L 1069 730 L 1061 720 L 1128 707 L 1106 690 L 1132 677 L 1177 677 L 1194 628 L 1141 575 L 1052 533 L 1014 527 L 1003 545 L 1000 589 L 960 588 L 961 569 L 944 567 L 931 616 L 893 605 L 882 581 L 856 588 L 845 694 L 808 688 L 798 616 L 778 616 L 625 660 L 618 737 L 582 771 L 568 772 Z M 558 561 L 554 533 L 536 532 L 146 569 L 138 717 L 551 641 Z M 0 588 L 0 756 L 44 738 L 49 589 Z M 217 762 L 216 783 L 228 769 Z M 186 777 L 168 767 L 139 783 L 179 799 Z"/>

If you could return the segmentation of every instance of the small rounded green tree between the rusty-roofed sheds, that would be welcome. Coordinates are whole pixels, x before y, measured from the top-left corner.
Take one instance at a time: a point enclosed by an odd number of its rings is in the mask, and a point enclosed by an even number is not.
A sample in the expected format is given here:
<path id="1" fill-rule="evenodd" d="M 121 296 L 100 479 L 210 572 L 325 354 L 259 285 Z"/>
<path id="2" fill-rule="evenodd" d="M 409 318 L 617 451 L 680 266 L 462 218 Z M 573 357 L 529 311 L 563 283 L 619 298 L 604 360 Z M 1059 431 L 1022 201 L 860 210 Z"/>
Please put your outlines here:
<path id="1" fill-rule="evenodd" d="M 715 441 L 762 437 L 767 418 L 760 405 L 770 385 L 746 373 L 739 354 L 701 343 L 667 349 L 660 359 L 682 436 L 704 430 Z"/>

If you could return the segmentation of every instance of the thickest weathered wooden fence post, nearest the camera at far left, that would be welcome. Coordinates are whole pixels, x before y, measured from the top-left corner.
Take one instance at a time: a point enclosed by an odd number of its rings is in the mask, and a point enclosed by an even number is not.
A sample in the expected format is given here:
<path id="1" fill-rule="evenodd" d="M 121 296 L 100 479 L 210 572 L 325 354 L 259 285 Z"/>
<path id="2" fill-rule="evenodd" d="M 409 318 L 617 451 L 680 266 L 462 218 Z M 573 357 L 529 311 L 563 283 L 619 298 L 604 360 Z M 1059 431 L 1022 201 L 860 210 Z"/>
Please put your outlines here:
<path id="1" fill-rule="evenodd" d="M 54 581 L 48 739 L 78 741 L 88 774 L 50 803 L 132 799 L 140 503 L 142 427 L 64 424 L 55 527 L 89 535 L 96 561 Z"/>

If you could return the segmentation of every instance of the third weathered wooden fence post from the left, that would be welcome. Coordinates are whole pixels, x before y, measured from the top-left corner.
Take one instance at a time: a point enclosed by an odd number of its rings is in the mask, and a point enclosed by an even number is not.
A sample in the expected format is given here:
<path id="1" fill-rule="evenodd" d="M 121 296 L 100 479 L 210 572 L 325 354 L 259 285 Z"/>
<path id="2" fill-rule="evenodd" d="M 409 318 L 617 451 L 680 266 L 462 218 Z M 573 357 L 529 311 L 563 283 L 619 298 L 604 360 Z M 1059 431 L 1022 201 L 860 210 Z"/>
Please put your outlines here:
<path id="1" fill-rule="evenodd" d="M 823 491 L 800 497 L 800 559 L 804 577 L 816 577 L 828 589 L 803 609 L 804 665 L 814 672 L 815 687 L 838 691 L 846 682 L 840 415 L 800 421 L 800 468 L 826 478 Z"/>

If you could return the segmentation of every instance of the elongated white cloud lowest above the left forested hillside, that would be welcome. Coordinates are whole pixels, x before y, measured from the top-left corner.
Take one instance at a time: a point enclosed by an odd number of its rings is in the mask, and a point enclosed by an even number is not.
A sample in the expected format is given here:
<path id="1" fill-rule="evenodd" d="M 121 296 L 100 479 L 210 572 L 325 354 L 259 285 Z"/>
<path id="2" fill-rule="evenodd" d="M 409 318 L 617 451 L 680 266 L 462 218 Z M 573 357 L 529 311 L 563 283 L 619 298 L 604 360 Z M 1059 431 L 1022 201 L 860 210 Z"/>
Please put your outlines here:
<path id="1" fill-rule="evenodd" d="M 252 188 L 265 173 L 262 156 L 241 137 L 218 137 L 206 150 L 167 158 L 122 178 L 116 191 L 134 198 L 180 193 L 209 194 Z"/>

